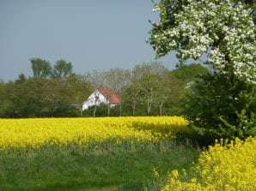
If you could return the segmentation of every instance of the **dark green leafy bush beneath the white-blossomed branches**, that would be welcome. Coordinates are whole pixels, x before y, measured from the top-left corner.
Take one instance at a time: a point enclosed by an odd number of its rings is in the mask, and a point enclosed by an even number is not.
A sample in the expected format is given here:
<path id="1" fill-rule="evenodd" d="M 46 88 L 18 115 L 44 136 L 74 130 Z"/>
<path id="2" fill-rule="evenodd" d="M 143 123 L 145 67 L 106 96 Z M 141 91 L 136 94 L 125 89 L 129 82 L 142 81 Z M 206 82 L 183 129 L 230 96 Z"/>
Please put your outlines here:
<path id="1" fill-rule="evenodd" d="M 256 133 L 256 87 L 226 75 L 204 75 L 189 94 L 186 117 L 208 139 L 247 138 Z"/>

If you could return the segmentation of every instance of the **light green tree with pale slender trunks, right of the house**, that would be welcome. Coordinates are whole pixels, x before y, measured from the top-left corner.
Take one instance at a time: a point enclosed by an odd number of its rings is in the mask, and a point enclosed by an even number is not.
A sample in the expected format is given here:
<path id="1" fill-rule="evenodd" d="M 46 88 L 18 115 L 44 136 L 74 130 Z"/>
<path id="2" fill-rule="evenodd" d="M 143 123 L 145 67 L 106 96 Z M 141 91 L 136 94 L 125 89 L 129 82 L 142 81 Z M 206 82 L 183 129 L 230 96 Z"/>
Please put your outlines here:
<path id="1" fill-rule="evenodd" d="M 131 71 L 131 85 L 126 91 L 126 101 L 130 102 L 132 115 L 152 115 L 168 98 L 168 69 L 162 63 L 143 63 Z M 142 110 L 143 108 L 143 110 Z"/>

